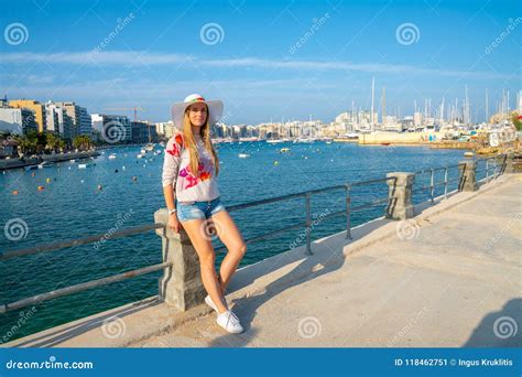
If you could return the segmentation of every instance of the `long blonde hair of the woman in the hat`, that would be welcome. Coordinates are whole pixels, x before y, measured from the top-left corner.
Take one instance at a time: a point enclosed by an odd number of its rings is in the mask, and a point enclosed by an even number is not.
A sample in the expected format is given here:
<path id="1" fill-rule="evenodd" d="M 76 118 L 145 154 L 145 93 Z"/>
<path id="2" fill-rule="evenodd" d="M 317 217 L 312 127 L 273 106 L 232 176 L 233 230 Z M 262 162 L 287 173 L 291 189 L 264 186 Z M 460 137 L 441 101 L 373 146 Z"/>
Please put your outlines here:
<path id="1" fill-rule="evenodd" d="M 207 106 L 205 104 L 205 106 Z M 192 133 L 192 123 L 191 123 L 191 118 L 188 117 L 188 109 L 189 106 L 185 109 L 185 115 L 183 117 L 183 140 L 185 143 L 185 148 L 188 149 L 188 155 L 191 157 L 189 160 L 189 166 L 191 166 L 191 172 L 193 173 L 194 176 L 198 175 L 198 168 L 199 168 L 199 153 L 197 152 L 196 148 L 196 140 L 194 139 L 194 134 Z M 213 141 L 211 141 L 211 132 L 210 132 L 210 125 L 208 123 L 208 106 L 207 106 L 207 119 L 205 120 L 205 125 L 199 128 L 199 132 L 203 139 L 203 143 L 205 146 L 205 149 L 208 151 L 208 153 L 211 155 L 213 161 L 214 161 L 214 168 L 215 168 L 215 174 L 216 176 L 219 174 L 219 159 L 217 157 L 216 150 L 214 149 Z"/>

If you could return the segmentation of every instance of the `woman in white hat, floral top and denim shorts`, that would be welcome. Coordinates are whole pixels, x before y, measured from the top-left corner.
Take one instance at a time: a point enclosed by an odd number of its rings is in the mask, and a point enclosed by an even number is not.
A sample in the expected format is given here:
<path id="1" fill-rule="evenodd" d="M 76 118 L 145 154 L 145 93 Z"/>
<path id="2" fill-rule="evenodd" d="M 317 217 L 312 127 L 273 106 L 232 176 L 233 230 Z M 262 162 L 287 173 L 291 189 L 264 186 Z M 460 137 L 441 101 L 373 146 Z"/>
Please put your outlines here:
<path id="1" fill-rule="evenodd" d="M 194 94 L 175 104 L 171 112 L 175 132 L 166 144 L 162 174 L 168 226 L 180 233 L 181 225 L 196 249 L 208 293 L 205 302 L 217 312 L 218 325 L 230 333 L 241 333 L 243 328 L 227 305 L 225 290 L 247 246 L 219 200 L 219 160 L 210 139 L 210 126 L 221 117 L 222 103 L 206 101 Z M 219 276 L 215 270 L 213 229 L 228 250 Z"/>

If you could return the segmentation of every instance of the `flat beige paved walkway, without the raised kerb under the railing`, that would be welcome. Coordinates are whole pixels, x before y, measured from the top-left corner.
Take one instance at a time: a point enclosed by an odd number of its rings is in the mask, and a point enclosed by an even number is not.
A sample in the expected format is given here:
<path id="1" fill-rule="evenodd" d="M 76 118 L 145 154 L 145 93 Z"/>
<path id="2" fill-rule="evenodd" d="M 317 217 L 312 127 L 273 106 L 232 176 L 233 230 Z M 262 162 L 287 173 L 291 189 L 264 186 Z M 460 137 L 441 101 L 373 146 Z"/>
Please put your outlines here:
<path id="1" fill-rule="evenodd" d="M 224 334 L 208 315 L 137 345 L 522 346 L 521 193 L 512 176 L 347 258 L 339 239 L 315 247 L 318 256 L 294 268 L 304 277 L 286 273 L 232 301 L 241 335 Z M 503 340 L 513 321 L 518 333 Z"/>

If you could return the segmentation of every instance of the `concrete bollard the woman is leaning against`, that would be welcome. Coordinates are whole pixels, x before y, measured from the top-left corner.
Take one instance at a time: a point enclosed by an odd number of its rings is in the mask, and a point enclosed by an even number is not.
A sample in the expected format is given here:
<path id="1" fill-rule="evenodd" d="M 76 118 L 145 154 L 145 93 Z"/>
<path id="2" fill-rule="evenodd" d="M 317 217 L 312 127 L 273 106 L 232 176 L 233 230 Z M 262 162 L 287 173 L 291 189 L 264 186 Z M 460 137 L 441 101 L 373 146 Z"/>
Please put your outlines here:
<path id="1" fill-rule="evenodd" d="M 165 229 L 156 229 L 162 238 L 163 261 L 171 261 L 172 267 L 164 270 L 160 278 L 160 298 L 181 311 L 186 311 L 204 302 L 205 287 L 199 269 L 199 258 L 184 229 L 180 234 L 168 226 L 166 208 L 154 213 L 154 222 L 165 224 Z"/>

